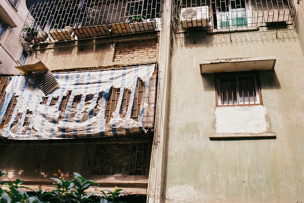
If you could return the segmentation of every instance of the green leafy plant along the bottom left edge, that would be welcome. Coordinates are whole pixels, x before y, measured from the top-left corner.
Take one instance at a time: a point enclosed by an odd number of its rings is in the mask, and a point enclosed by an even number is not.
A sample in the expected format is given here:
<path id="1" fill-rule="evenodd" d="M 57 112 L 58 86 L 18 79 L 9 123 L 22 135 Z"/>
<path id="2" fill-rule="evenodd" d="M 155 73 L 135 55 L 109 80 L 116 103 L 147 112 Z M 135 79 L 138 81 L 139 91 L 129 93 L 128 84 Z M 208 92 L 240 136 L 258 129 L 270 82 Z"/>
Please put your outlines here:
<path id="1" fill-rule="evenodd" d="M 114 188 L 114 191 L 101 191 L 104 197 L 89 194 L 86 192 L 88 188 L 97 187 L 98 184 L 95 181 L 86 180 L 78 173 L 74 175 L 63 174 L 58 170 L 58 174 L 54 174 L 56 178 L 50 178 L 54 182 L 55 190 L 46 192 L 44 190 L 34 191 L 30 188 L 22 186 L 23 181 L 17 179 L 13 182 L 7 174 L 0 171 L 0 177 L 6 176 L 9 182 L 0 181 L 0 186 L 4 186 L 5 189 L 0 187 L 0 203 L 126 203 L 119 201 L 119 194 L 122 189 Z M 71 181 L 64 180 L 65 178 L 74 178 Z M 29 195 L 26 191 L 22 191 L 21 188 L 31 191 L 34 195 Z"/>

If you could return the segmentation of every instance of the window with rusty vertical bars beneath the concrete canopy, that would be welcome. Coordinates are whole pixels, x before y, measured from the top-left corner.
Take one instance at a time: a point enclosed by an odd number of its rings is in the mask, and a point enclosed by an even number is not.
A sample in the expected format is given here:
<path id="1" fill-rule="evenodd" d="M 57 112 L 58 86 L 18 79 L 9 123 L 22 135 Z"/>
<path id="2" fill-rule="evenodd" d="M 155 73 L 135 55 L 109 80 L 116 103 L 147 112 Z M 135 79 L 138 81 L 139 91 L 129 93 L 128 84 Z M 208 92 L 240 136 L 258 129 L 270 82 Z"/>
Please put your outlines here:
<path id="1" fill-rule="evenodd" d="M 258 72 L 215 75 L 216 106 L 262 104 Z"/>

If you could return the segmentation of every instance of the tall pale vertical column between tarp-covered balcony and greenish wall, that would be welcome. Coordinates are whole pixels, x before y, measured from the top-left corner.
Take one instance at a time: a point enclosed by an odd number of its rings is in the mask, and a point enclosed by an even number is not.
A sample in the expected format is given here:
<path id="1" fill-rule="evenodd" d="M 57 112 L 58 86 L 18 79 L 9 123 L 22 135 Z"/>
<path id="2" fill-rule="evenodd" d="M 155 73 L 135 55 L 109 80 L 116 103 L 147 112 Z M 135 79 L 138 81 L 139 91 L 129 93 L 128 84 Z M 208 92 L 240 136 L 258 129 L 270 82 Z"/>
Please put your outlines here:
<path id="1" fill-rule="evenodd" d="M 148 182 L 148 203 L 164 201 L 165 178 L 167 171 L 168 123 L 170 107 L 170 77 L 171 77 L 171 9 L 172 0 L 163 1 L 162 30 L 159 41 L 158 84 L 154 144 L 152 146 L 150 173 Z"/>

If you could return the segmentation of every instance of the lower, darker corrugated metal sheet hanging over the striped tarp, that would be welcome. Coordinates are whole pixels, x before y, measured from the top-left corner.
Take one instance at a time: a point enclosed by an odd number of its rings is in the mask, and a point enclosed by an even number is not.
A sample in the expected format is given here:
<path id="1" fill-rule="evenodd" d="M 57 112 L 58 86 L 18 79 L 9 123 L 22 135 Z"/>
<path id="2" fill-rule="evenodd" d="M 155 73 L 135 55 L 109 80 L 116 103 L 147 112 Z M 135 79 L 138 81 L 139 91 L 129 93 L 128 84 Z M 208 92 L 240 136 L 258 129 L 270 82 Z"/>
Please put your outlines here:
<path id="1" fill-rule="evenodd" d="M 55 76 L 49 70 L 33 72 L 33 75 L 45 96 L 59 85 Z"/>

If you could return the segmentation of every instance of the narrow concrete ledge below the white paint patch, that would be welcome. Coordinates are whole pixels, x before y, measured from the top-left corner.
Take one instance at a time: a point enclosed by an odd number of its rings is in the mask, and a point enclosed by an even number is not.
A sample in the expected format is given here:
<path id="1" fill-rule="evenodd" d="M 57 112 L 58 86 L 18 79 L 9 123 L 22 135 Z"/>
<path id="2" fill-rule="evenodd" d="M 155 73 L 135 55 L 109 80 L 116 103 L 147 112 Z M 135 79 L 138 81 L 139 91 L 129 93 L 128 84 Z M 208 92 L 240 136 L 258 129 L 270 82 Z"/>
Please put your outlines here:
<path id="1" fill-rule="evenodd" d="M 212 133 L 209 134 L 209 138 L 255 138 L 255 137 L 269 137 L 275 138 L 275 133 Z"/>

